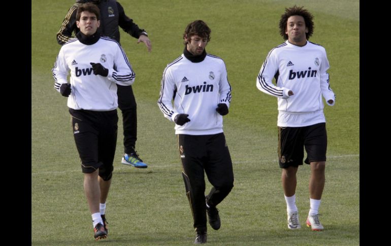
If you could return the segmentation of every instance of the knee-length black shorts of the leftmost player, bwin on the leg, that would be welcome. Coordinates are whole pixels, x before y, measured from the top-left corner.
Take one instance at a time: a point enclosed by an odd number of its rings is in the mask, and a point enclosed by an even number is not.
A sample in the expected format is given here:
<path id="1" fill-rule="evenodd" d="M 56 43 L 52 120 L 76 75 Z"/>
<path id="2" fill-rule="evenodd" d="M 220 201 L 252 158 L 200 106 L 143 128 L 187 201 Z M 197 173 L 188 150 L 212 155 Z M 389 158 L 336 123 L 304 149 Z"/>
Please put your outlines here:
<path id="1" fill-rule="evenodd" d="M 117 110 L 69 109 L 69 113 L 83 173 L 99 168 L 99 175 L 104 180 L 110 180 L 117 145 Z"/>

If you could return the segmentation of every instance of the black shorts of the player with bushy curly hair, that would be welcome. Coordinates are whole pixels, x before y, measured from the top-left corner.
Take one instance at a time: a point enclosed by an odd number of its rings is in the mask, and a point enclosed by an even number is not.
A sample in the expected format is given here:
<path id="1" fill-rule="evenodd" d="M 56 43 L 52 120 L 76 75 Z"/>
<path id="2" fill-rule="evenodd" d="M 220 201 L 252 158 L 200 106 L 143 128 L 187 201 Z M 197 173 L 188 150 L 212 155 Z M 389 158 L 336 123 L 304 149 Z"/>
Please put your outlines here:
<path id="1" fill-rule="evenodd" d="M 303 127 L 278 127 L 278 162 L 281 168 L 326 161 L 326 123 Z"/>

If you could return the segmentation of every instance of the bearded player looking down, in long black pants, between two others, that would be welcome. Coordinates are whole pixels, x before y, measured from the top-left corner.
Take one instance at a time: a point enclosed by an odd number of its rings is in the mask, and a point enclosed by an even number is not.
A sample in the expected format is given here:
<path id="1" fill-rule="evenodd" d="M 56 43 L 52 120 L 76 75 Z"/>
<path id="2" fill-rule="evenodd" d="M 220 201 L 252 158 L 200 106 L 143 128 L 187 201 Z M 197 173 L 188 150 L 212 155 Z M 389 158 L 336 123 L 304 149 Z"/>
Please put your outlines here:
<path id="1" fill-rule="evenodd" d="M 164 116 L 176 124 L 182 175 L 197 233 L 194 243 L 207 241 L 206 214 L 211 227 L 220 228 L 216 205 L 234 187 L 231 156 L 222 130 L 231 85 L 224 61 L 205 51 L 210 33 L 202 20 L 187 25 L 183 54 L 167 65 L 157 102 Z M 204 171 L 213 186 L 206 197 Z"/>

